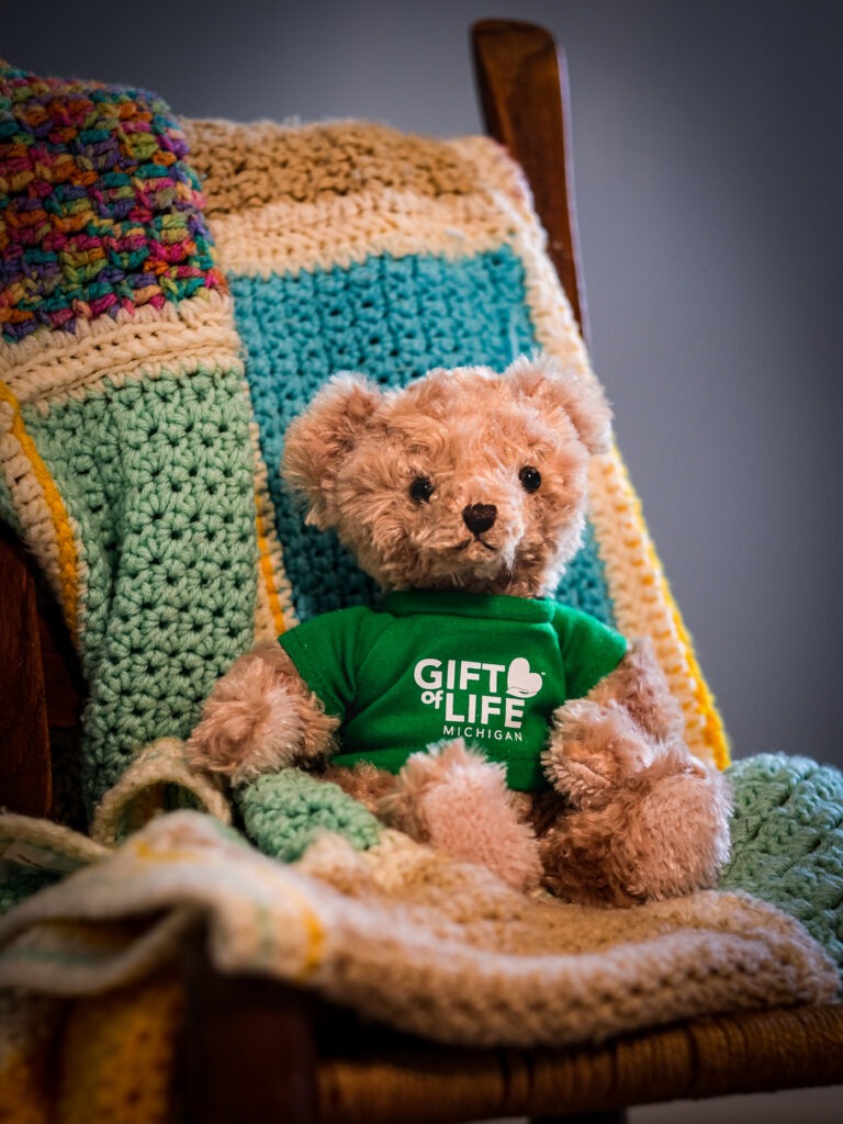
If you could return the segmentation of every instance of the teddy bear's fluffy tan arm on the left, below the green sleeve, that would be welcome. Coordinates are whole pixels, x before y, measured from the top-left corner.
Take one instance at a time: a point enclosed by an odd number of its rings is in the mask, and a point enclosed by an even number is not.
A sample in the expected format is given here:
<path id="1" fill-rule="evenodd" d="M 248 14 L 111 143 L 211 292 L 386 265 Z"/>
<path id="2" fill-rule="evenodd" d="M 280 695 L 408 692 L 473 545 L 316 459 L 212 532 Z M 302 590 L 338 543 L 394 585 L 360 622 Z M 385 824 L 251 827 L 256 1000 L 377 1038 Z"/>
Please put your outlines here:
<path id="1" fill-rule="evenodd" d="M 326 753 L 337 719 L 275 641 L 256 644 L 214 687 L 188 741 L 192 764 L 235 785 Z"/>

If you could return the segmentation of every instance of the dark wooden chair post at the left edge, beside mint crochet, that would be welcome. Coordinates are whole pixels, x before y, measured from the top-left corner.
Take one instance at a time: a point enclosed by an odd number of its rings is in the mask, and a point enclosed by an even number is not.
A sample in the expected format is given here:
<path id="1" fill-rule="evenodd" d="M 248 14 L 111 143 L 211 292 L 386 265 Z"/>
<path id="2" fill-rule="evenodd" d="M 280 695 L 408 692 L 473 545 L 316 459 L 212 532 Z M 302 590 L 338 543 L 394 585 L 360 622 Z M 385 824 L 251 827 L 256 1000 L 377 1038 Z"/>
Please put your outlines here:
<path id="1" fill-rule="evenodd" d="M 35 580 L 0 525 L 0 807 L 47 816 L 53 803 Z"/>

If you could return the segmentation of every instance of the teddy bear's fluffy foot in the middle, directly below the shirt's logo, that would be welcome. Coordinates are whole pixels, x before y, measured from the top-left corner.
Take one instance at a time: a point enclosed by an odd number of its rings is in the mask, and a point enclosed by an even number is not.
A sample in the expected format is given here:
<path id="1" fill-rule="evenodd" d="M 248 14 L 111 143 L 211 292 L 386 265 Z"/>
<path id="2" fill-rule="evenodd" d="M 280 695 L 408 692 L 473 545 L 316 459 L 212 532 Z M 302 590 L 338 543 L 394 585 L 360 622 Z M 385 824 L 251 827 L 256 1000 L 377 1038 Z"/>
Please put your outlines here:
<path id="1" fill-rule="evenodd" d="M 482 863 L 509 886 L 537 887 L 538 845 L 516 808 L 501 765 L 456 738 L 414 753 L 379 812 L 391 826 L 438 851 Z"/>

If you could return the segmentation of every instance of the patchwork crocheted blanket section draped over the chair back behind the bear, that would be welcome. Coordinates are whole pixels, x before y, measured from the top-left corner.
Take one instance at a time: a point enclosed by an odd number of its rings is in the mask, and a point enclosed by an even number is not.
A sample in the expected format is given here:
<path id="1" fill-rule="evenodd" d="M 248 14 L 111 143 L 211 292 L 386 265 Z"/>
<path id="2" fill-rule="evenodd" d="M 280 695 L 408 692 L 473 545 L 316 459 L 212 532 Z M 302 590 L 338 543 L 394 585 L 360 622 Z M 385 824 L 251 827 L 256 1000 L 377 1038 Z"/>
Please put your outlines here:
<path id="1" fill-rule="evenodd" d="M 79 652 L 90 810 L 256 637 L 375 597 L 277 471 L 326 379 L 588 359 L 523 178 L 484 138 L 176 123 L 143 91 L 4 67 L 0 162 L 0 516 Z M 559 597 L 653 637 L 692 750 L 723 767 L 617 452 L 590 483 Z"/>

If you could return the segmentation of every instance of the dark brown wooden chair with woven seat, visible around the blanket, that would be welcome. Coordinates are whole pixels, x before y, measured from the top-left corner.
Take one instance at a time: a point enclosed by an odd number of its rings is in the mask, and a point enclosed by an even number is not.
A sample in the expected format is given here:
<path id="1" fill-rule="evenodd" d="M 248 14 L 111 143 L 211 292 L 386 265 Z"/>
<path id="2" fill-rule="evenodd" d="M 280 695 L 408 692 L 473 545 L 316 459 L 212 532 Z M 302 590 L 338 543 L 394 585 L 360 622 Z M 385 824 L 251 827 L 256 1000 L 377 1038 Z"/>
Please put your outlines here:
<path id="1" fill-rule="evenodd" d="M 524 169 L 549 253 L 588 343 L 578 270 L 566 75 L 529 24 L 472 29 L 489 133 Z M 79 724 L 84 687 L 30 564 L 0 535 L 0 805 L 49 816 L 51 731 Z M 843 1078 L 843 1006 L 697 1019 L 601 1048 L 460 1050 L 364 1025 L 353 1013 L 257 977 L 223 977 L 203 934 L 185 949 L 184 1115 L 207 1124 L 269 1118 L 432 1124 L 532 1115 L 619 1121 L 624 1107 L 831 1085 Z"/>

